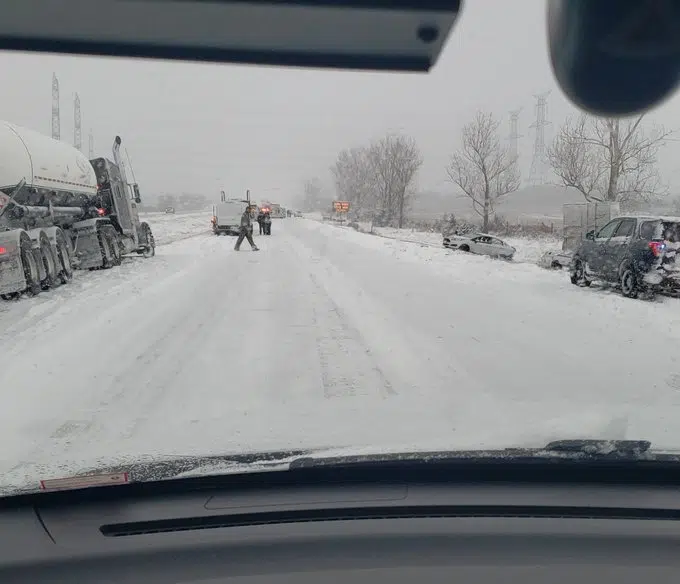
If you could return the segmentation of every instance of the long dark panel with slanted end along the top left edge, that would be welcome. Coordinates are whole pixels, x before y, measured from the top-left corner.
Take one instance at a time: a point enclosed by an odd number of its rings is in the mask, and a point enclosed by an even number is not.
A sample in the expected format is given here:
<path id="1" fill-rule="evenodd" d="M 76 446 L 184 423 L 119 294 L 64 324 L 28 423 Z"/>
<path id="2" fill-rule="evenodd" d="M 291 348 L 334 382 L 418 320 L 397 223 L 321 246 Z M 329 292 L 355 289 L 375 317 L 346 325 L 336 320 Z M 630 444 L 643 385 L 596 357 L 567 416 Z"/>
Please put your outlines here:
<path id="1" fill-rule="evenodd" d="M 62 0 L 55 26 L 54 0 L 32 0 L 3 10 L 0 50 L 425 72 L 437 61 L 461 4 Z M 148 23 L 153 25 L 143 25 Z"/>

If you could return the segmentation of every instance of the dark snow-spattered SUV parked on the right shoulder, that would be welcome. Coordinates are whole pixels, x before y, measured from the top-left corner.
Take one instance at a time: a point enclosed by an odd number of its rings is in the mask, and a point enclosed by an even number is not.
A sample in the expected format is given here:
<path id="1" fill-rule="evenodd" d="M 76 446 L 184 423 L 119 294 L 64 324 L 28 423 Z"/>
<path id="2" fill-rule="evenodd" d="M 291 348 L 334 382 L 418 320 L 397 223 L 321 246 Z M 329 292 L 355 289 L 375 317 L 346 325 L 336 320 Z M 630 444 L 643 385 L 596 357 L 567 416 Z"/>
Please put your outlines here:
<path id="1" fill-rule="evenodd" d="M 640 292 L 677 295 L 678 249 L 680 219 L 617 217 L 599 231 L 586 234 L 571 263 L 571 283 L 614 282 L 628 298 L 637 298 Z"/>

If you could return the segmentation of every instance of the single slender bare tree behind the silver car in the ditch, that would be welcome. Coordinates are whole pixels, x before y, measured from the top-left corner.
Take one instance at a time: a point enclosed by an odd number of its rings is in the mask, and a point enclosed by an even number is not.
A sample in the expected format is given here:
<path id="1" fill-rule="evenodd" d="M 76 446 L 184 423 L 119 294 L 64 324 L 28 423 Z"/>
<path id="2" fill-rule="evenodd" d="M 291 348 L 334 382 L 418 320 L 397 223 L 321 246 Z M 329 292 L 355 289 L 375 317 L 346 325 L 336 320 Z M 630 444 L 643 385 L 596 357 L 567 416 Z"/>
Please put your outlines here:
<path id="1" fill-rule="evenodd" d="M 451 156 L 447 168 L 449 179 L 470 198 L 482 218 L 484 231 L 498 200 L 520 185 L 516 159 L 501 144 L 498 127 L 493 114 L 478 112 L 463 127 L 461 149 Z"/>

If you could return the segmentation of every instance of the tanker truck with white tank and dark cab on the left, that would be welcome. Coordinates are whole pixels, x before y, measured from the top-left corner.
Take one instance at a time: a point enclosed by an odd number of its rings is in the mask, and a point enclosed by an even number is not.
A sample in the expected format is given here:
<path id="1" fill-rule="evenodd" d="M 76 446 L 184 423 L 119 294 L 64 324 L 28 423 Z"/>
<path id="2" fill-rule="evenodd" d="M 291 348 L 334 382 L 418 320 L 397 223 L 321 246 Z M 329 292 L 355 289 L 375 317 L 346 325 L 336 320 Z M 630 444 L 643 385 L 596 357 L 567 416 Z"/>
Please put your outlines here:
<path id="1" fill-rule="evenodd" d="M 66 284 L 73 269 L 155 255 L 137 184 L 120 157 L 88 160 L 72 146 L 0 121 L 0 297 Z"/>

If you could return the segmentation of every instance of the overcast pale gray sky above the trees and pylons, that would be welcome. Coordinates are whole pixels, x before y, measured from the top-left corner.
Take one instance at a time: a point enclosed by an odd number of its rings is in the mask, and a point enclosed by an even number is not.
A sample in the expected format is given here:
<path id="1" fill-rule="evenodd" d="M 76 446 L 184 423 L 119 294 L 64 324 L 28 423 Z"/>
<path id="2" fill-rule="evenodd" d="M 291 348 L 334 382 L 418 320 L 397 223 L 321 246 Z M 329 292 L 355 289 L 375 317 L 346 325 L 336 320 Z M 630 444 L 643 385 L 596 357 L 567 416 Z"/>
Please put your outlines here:
<path id="1" fill-rule="evenodd" d="M 468 1 L 443 55 L 429 74 L 323 72 L 226 65 L 45 55 L 0 54 L 3 117 L 50 133 L 51 77 L 61 87 L 62 139 L 73 140 L 73 95 L 97 155 L 110 157 L 123 137 L 142 192 L 203 192 L 217 197 L 250 188 L 255 200 L 287 202 L 306 178 L 330 185 L 337 153 L 388 131 L 418 142 L 424 157 L 418 185 L 452 191 L 445 166 L 461 127 L 478 109 L 492 111 L 509 133 L 508 112 L 523 107 L 520 142 L 528 172 L 533 95 L 552 90 L 553 126 L 575 110 L 550 71 L 544 0 Z M 11 75 L 10 75 L 11 73 Z M 649 119 L 680 129 L 680 97 Z M 548 137 L 550 137 L 550 133 Z M 669 145 L 662 170 L 675 170 L 680 143 Z"/>

